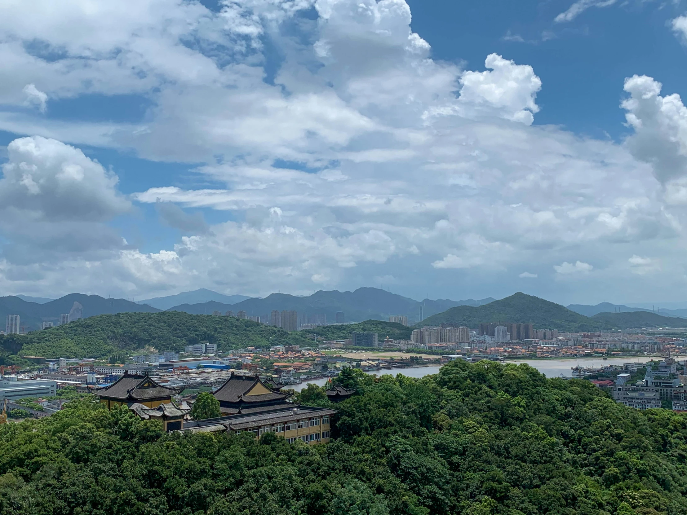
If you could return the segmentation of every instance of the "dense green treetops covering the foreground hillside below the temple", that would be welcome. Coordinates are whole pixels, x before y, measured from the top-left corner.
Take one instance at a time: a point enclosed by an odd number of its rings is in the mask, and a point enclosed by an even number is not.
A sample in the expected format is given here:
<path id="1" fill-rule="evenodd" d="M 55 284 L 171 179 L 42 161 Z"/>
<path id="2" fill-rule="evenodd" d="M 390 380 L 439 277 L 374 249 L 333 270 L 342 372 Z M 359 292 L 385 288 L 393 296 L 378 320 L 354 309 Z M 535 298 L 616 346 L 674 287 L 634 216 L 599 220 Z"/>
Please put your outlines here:
<path id="1" fill-rule="evenodd" d="M 3 424 L 0 515 L 687 514 L 687 415 L 528 365 L 354 386 L 322 445 L 164 435 L 87 401 Z"/>

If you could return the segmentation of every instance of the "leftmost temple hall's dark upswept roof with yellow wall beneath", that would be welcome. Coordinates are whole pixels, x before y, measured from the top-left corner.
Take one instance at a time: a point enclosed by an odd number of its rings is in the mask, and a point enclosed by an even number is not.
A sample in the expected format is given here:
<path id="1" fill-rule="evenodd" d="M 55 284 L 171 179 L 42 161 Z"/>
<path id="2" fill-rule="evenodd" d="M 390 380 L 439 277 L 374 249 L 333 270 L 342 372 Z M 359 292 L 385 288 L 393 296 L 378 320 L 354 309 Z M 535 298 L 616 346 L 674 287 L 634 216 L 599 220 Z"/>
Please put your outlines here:
<path id="1" fill-rule="evenodd" d="M 159 385 L 148 374 L 138 375 L 124 373 L 113 384 L 100 388 L 90 389 L 93 395 L 100 397 L 100 402 L 106 404 L 107 409 L 113 405 L 142 404 L 146 408 L 157 408 L 160 404 L 172 402 L 172 396 L 183 391 L 183 387 L 166 387 Z"/>

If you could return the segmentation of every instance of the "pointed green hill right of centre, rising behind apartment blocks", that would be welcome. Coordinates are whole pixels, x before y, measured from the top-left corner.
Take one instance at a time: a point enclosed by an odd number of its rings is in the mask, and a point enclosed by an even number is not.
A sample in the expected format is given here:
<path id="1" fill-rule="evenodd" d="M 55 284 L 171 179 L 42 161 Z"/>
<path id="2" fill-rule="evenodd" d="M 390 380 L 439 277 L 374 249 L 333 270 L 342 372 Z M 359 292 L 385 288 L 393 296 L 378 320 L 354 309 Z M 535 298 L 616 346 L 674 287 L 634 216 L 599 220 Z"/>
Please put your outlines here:
<path id="1" fill-rule="evenodd" d="M 536 329 L 593 331 L 601 323 L 539 297 L 515 293 L 483 306 L 458 306 L 427 317 L 418 325 L 457 323 L 477 328 L 480 323 L 533 323 Z"/>

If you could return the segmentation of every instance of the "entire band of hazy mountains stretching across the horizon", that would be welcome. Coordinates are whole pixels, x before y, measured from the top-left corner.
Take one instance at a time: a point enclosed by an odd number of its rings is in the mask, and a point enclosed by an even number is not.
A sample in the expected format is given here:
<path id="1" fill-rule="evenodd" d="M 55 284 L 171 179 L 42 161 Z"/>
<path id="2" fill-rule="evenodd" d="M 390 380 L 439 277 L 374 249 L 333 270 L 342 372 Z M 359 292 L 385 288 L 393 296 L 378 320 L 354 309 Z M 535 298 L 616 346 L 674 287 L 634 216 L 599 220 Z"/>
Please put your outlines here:
<path id="1" fill-rule="evenodd" d="M 30 299 L 34 299 L 30 301 Z M 177 304 L 185 301 L 182 304 Z M 198 302 L 195 302 L 198 301 Z M 233 301 L 233 302 L 232 302 Z M 146 304 L 150 303 L 150 304 Z M 152 305 L 151 305 L 152 304 Z M 660 310 L 660 314 L 646 308 L 622 304 L 601 303 L 596 306 L 571 304 L 561 306 L 538 297 L 517 293 L 495 301 L 486 299 L 424 299 L 416 301 L 379 288 L 358 288 L 354 291 L 320 290 L 308 297 L 273 293 L 264 299 L 245 295 L 223 295 L 201 288 L 192 292 L 147 301 L 105 299 L 98 295 L 72 293 L 60 299 L 0 297 L 0 320 L 8 314 L 19 314 L 25 332 L 39 329 L 41 322 L 57 324 L 60 314 L 69 313 L 71 319 L 118 312 L 180 311 L 189 314 L 212 314 L 243 310 L 247 316 L 259 316 L 262 321 L 272 310 L 296 310 L 302 323 L 317 315 L 332 323 L 337 312 L 343 312 L 346 322 L 370 319 L 387 320 L 392 314 L 405 315 L 409 323 L 422 319 L 423 325 L 449 322 L 476 328 L 482 322 L 534 323 L 537 328 L 560 330 L 600 330 L 633 327 L 684 327 L 687 310 Z M 667 316 L 664 316 L 667 315 Z"/>

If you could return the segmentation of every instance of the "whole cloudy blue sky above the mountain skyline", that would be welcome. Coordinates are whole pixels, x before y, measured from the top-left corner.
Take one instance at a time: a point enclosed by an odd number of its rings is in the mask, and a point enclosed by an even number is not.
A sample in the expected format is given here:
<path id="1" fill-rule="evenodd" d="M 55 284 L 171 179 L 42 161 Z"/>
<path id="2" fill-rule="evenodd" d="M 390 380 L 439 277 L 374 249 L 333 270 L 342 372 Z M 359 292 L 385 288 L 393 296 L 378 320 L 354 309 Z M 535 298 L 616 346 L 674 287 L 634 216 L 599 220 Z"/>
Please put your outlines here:
<path id="1" fill-rule="evenodd" d="M 684 2 L 34 3 L 5 295 L 684 300 Z"/>

